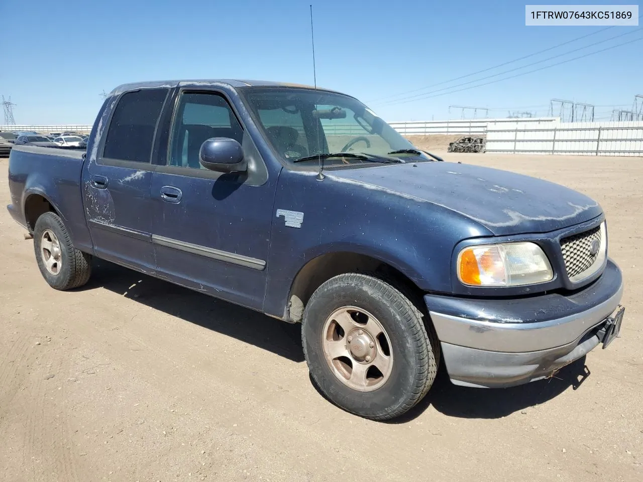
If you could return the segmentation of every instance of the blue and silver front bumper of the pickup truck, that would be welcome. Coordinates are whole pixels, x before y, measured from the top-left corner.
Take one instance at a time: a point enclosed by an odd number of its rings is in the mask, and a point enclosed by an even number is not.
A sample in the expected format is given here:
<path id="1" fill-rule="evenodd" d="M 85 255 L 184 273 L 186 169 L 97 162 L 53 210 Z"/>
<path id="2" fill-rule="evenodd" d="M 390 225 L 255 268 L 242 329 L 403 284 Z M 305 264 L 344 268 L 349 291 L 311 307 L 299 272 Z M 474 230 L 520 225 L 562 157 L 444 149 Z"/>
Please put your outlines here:
<path id="1" fill-rule="evenodd" d="M 595 348 L 622 297 L 608 260 L 601 276 L 567 296 L 519 299 L 424 296 L 451 381 L 507 387 L 547 377 Z"/>

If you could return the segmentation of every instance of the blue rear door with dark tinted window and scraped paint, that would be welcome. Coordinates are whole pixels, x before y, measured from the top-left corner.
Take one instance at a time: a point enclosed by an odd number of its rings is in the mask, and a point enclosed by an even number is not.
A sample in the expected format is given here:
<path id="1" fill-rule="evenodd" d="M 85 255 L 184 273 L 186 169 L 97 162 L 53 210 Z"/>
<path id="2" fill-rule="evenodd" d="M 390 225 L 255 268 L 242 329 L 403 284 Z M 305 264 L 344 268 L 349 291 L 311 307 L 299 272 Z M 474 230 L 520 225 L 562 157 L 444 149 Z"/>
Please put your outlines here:
<path id="1" fill-rule="evenodd" d="M 87 225 L 96 256 L 153 272 L 150 163 L 168 89 L 122 94 L 98 146 L 96 162 L 83 171 Z"/>

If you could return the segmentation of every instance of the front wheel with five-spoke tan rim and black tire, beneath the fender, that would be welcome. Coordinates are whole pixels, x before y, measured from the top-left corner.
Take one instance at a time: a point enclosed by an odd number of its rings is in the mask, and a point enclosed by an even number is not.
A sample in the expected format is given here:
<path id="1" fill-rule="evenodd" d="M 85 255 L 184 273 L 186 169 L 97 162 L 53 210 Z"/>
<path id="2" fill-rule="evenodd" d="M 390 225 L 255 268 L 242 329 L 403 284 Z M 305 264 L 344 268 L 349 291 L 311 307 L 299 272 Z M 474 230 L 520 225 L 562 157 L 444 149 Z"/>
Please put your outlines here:
<path id="1" fill-rule="evenodd" d="M 427 335 L 421 312 L 399 290 L 366 274 L 340 274 L 312 294 L 302 341 L 321 392 L 374 420 L 412 408 L 437 372 L 437 339 Z"/>

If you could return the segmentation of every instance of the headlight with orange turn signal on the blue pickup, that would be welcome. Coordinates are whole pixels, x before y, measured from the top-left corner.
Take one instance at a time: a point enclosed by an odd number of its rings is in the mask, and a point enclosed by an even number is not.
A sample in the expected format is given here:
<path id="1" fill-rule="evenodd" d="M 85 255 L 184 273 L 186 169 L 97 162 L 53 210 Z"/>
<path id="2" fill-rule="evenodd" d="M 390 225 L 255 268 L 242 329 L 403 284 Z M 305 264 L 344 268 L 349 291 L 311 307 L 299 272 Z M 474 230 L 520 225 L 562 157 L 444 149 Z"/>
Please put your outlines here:
<path id="1" fill-rule="evenodd" d="M 520 286 L 550 281 L 554 272 L 537 244 L 485 244 L 460 251 L 458 278 L 469 286 Z"/>

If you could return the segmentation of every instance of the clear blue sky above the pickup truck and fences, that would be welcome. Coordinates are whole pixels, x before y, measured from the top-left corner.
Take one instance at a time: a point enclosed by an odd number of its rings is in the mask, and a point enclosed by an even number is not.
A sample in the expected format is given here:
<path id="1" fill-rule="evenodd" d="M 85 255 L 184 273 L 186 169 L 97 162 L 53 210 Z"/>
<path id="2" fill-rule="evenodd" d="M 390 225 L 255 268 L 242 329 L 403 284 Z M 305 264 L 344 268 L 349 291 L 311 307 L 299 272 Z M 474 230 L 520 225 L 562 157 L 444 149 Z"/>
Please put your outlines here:
<path id="1" fill-rule="evenodd" d="M 125 82 L 260 78 L 312 84 L 310 3 L 37 0 L 19 12 L 17 3 L 3 1 L 0 94 L 16 104 L 17 123 L 62 124 L 93 122 L 100 93 Z M 488 107 L 497 117 L 510 110 L 544 115 L 551 98 L 603 106 L 596 108 L 597 116 L 609 118 L 612 106 L 628 108 L 634 94 L 643 94 L 642 40 L 475 89 L 392 102 L 632 32 L 506 76 L 561 62 L 643 37 L 643 28 L 614 27 L 478 76 L 391 98 L 602 27 L 527 27 L 525 2 L 515 0 L 314 0 L 312 5 L 318 85 L 358 97 L 388 121 L 460 118 L 462 112 L 449 112 L 449 105 Z M 463 87 L 470 85 L 475 84 Z"/>

